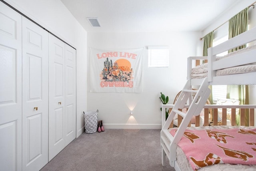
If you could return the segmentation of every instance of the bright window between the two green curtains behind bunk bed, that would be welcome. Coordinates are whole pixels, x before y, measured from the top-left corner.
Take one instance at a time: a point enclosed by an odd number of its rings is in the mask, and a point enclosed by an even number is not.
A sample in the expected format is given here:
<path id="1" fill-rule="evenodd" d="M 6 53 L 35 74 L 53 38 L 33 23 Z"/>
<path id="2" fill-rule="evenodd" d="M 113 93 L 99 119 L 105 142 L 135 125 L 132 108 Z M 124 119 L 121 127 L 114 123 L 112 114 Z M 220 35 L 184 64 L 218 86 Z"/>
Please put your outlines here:
<path id="1" fill-rule="evenodd" d="M 228 35 L 224 36 L 216 41 L 213 41 L 213 46 L 216 46 L 218 44 L 221 44 L 228 40 Z M 217 56 L 224 56 L 228 54 L 228 51 L 222 52 L 221 54 L 218 54 Z M 216 104 L 217 99 L 226 99 L 227 95 L 227 85 L 212 85 L 212 102 Z"/>

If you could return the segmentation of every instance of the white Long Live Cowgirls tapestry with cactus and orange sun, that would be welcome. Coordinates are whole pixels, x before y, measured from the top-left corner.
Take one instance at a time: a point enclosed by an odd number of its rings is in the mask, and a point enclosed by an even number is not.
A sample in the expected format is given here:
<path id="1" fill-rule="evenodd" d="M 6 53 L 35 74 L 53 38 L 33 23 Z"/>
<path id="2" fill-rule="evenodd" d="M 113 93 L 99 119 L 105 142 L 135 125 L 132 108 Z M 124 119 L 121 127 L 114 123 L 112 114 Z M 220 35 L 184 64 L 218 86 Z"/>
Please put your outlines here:
<path id="1" fill-rule="evenodd" d="M 91 92 L 142 92 L 143 49 L 90 48 Z"/>

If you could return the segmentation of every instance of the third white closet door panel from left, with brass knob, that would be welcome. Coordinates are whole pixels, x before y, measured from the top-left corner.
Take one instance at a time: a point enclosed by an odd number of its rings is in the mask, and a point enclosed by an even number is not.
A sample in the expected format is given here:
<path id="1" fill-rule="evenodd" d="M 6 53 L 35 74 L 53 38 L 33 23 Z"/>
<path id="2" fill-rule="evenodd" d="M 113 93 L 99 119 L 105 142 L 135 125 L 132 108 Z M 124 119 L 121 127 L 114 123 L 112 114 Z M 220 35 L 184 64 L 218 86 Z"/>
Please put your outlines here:
<path id="1" fill-rule="evenodd" d="M 65 44 L 49 34 L 49 161 L 65 147 Z"/>

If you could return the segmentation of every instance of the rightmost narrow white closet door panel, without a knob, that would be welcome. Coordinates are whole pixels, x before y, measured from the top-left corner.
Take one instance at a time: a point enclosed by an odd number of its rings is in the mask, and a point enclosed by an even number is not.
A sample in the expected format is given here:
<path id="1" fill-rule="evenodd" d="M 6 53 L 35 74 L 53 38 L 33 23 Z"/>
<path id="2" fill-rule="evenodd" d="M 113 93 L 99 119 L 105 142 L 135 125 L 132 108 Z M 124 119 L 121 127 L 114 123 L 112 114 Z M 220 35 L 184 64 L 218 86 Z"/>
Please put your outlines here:
<path id="1" fill-rule="evenodd" d="M 65 44 L 65 145 L 76 138 L 76 50 Z"/>

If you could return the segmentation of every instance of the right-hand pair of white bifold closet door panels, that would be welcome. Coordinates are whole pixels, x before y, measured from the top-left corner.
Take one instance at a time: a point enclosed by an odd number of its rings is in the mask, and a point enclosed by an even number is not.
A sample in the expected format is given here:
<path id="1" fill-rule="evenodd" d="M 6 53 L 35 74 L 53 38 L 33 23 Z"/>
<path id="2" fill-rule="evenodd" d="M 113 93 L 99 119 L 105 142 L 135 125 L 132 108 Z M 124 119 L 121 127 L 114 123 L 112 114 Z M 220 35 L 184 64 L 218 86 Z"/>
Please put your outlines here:
<path id="1" fill-rule="evenodd" d="M 49 34 L 49 161 L 76 137 L 76 50 Z"/>

